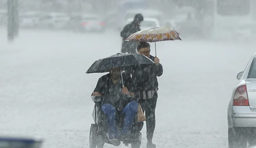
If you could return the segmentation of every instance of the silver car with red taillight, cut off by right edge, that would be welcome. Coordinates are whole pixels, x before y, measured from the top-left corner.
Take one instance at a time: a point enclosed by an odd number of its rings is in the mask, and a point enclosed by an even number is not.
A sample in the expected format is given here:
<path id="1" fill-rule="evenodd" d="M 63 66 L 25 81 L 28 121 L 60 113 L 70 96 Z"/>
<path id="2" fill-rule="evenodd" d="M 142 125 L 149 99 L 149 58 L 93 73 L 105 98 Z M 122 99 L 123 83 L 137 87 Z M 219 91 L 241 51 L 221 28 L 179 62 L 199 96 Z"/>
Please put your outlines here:
<path id="1" fill-rule="evenodd" d="M 229 148 L 256 145 L 256 53 L 236 78 L 228 106 Z"/>

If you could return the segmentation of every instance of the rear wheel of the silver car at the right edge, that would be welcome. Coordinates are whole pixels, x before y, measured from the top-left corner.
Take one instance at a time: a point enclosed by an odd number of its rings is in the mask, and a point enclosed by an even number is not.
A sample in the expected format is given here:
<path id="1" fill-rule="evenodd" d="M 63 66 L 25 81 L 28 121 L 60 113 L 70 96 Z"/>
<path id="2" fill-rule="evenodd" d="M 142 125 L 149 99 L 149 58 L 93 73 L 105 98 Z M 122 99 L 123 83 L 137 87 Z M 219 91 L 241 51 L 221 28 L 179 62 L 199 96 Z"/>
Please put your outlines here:
<path id="1" fill-rule="evenodd" d="M 247 140 L 245 135 L 241 132 L 240 128 L 228 129 L 228 145 L 229 148 L 246 148 Z"/>

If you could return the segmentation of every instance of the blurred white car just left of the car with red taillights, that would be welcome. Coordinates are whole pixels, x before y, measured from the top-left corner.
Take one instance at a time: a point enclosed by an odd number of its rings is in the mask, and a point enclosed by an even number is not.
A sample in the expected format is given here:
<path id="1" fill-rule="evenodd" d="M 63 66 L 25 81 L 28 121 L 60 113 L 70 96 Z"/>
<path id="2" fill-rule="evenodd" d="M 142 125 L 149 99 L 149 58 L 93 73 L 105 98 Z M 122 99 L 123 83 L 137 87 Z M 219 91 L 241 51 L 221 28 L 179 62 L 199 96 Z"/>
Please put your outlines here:
<path id="1" fill-rule="evenodd" d="M 40 18 L 40 26 L 52 29 L 65 29 L 68 27 L 70 17 L 66 13 L 48 13 Z"/>

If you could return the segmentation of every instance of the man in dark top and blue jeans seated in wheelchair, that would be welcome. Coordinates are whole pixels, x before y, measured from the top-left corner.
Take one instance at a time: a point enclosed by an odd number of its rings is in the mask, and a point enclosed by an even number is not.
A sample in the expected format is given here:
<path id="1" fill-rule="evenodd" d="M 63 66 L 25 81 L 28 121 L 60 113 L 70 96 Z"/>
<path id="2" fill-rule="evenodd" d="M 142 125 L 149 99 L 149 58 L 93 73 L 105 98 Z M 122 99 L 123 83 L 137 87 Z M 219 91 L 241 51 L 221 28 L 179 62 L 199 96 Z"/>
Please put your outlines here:
<path id="1" fill-rule="evenodd" d="M 123 76 L 124 86 L 121 80 L 120 68 L 113 68 L 110 73 L 102 76 L 92 93 L 93 96 L 101 96 L 102 98 L 102 111 L 106 114 L 109 140 L 118 141 L 119 136 L 126 136 L 131 132 L 133 120 L 138 110 L 138 103 L 132 101 L 134 93 L 131 92 L 133 87 L 130 76 Z M 123 88 L 122 88 L 123 87 Z M 129 89 L 128 89 L 129 88 Z M 95 101 L 95 100 L 94 100 Z M 121 133 L 118 133 L 115 114 L 116 110 L 125 114 L 124 126 Z"/>

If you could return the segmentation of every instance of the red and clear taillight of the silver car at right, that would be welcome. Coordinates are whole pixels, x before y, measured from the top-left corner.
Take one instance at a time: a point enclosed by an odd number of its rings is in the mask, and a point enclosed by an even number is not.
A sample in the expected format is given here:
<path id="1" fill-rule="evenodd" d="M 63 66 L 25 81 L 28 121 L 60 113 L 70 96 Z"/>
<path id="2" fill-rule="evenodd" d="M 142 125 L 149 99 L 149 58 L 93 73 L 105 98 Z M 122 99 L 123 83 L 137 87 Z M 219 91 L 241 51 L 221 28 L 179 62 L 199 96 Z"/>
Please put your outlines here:
<path id="1" fill-rule="evenodd" d="M 249 106 L 246 85 L 241 85 L 235 90 L 233 106 Z"/>

